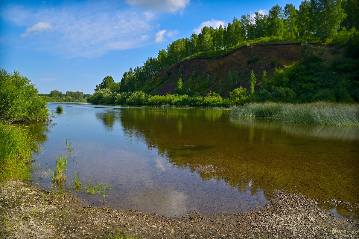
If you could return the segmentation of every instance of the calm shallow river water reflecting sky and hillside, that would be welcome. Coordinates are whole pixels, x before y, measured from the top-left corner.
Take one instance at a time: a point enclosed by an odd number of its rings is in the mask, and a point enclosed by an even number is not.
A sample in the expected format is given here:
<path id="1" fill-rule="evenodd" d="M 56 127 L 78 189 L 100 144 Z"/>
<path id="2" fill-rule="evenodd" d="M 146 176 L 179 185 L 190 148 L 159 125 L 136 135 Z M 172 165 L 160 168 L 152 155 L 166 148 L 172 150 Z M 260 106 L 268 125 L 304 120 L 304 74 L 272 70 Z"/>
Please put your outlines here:
<path id="1" fill-rule="evenodd" d="M 62 105 L 63 113 L 55 111 Z M 43 153 L 35 156 L 35 181 L 48 187 L 45 169 L 66 154 L 67 184 L 111 183 L 107 206 L 174 216 L 188 211 L 233 214 L 264 206 L 275 190 L 359 204 L 359 129 L 290 124 L 228 116 L 227 110 L 103 106 L 54 102 L 52 123 L 30 126 Z M 202 171 L 213 165 L 219 171 Z M 99 195 L 80 193 L 87 204 Z M 88 201 L 90 200 L 90 201 Z M 358 209 L 322 207 L 358 218 Z"/>

